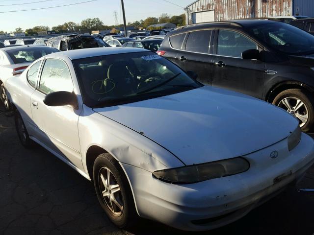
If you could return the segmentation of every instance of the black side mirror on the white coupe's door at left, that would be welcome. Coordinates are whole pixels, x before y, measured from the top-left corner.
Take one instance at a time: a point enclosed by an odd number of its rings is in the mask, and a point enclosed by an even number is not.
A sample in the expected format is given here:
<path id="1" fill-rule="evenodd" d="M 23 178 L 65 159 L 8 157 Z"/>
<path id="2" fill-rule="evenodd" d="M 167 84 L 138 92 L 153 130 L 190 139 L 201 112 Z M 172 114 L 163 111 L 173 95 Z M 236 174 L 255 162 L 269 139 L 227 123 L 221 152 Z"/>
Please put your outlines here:
<path id="1" fill-rule="evenodd" d="M 52 92 L 47 94 L 43 101 L 47 106 L 71 105 L 78 109 L 78 100 L 73 92 Z"/>

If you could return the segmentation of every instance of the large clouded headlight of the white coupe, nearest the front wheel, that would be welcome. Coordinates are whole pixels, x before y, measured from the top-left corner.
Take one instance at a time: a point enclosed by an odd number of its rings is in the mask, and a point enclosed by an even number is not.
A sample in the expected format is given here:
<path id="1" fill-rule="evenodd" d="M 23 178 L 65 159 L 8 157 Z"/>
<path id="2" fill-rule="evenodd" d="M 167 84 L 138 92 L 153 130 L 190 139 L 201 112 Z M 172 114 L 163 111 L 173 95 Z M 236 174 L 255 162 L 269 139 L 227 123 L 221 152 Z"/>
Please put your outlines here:
<path id="1" fill-rule="evenodd" d="M 250 168 L 244 158 L 232 158 L 205 164 L 187 165 L 178 168 L 157 170 L 153 175 L 173 184 L 192 184 L 214 178 L 235 175 Z"/>

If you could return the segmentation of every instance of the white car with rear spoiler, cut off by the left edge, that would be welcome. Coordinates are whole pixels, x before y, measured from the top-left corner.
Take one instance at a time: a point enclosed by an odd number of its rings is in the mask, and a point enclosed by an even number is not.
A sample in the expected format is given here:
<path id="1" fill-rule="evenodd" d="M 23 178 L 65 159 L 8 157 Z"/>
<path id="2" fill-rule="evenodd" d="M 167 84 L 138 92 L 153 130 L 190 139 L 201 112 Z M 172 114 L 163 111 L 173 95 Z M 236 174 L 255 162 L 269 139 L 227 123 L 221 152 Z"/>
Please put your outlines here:
<path id="1" fill-rule="evenodd" d="M 33 61 L 40 57 L 58 51 L 55 48 L 40 46 L 0 48 L 0 99 L 6 110 L 10 109 L 5 91 L 6 80 L 12 75 L 21 74 Z"/>

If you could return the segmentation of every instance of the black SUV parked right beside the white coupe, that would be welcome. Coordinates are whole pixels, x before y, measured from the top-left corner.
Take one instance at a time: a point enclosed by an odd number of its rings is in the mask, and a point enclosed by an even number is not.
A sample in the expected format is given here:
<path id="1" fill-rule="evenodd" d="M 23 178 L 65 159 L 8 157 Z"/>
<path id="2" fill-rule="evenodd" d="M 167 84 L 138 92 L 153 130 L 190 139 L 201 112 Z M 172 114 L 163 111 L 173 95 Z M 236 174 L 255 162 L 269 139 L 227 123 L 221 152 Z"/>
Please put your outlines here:
<path id="1" fill-rule="evenodd" d="M 287 110 L 303 131 L 314 127 L 314 36 L 297 27 L 269 20 L 187 25 L 169 32 L 157 53 L 204 84 Z"/>

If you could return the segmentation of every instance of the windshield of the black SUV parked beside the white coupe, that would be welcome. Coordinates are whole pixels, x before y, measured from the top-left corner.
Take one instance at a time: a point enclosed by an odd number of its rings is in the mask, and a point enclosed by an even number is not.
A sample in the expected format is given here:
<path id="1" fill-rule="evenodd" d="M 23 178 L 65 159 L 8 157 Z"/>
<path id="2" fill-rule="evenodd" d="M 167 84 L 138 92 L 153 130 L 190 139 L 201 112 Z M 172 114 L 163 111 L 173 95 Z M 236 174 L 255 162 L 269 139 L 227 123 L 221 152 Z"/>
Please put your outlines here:
<path id="1" fill-rule="evenodd" d="M 247 29 L 268 46 L 290 55 L 314 53 L 314 36 L 290 24 L 273 23 Z"/>

